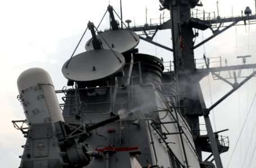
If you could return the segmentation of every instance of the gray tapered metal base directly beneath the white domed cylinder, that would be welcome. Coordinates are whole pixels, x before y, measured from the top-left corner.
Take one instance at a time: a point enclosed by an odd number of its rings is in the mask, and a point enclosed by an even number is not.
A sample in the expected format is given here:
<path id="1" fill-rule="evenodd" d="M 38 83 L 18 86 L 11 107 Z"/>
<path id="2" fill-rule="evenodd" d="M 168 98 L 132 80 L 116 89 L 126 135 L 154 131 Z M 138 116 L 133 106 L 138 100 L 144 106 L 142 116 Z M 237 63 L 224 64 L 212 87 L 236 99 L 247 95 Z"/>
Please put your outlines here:
<path id="1" fill-rule="evenodd" d="M 22 155 L 21 168 L 46 168 L 62 167 L 64 160 L 60 153 L 58 139 L 53 136 L 52 123 L 37 123 L 31 125 L 24 153 Z"/>

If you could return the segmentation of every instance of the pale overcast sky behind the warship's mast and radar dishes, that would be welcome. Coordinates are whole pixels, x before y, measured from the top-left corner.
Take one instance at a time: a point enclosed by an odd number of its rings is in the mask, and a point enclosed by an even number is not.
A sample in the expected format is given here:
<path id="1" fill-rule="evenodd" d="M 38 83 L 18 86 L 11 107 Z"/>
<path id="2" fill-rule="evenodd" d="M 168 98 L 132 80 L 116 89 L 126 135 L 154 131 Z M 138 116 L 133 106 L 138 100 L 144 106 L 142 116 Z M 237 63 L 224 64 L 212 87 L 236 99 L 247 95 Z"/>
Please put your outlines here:
<path id="1" fill-rule="evenodd" d="M 119 10 L 119 0 L 110 1 L 116 12 Z M 217 13 L 216 1 L 202 0 L 204 7 L 200 10 Z M 25 144 L 25 138 L 19 130 L 12 127 L 11 120 L 25 119 L 23 108 L 16 97 L 16 80 L 19 74 L 25 69 L 41 67 L 46 69 L 52 77 L 56 90 L 60 90 L 66 85 L 66 79 L 62 76 L 62 64 L 69 59 L 80 36 L 86 29 L 87 22 L 94 22 L 98 25 L 109 4 L 108 0 L 97 1 L 37 1 L 37 0 L 0 0 L 0 165 L 1 167 L 18 167 L 20 164 L 19 155 Z M 255 13 L 254 0 L 231 1 L 219 0 L 219 13 L 221 17 L 241 15 L 246 6 L 250 6 Z M 159 2 L 156 0 L 123 0 L 123 18 L 132 20 L 132 24 L 145 24 L 145 9 L 147 8 L 147 18 L 158 18 Z M 168 15 L 168 11 L 165 11 Z M 158 20 L 152 20 L 152 22 Z M 242 23 L 240 23 L 242 24 Z M 101 30 L 109 28 L 108 16 L 102 21 Z M 211 35 L 210 31 L 199 31 L 196 43 Z M 89 38 L 89 34 L 79 46 L 77 54 L 84 52 L 84 44 Z M 171 46 L 170 31 L 160 31 L 154 38 L 158 43 Z M 156 48 L 151 44 L 141 41 L 138 46 L 141 53 L 163 57 L 164 60 L 172 60 L 172 53 L 161 48 Z M 204 46 L 195 50 L 195 57 L 222 56 L 222 64 L 227 59 L 228 65 L 241 64 L 240 55 L 251 55 L 248 63 L 256 63 L 256 25 L 234 26 L 227 32 L 217 36 Z M 251 71 L 245 70 L 244 75 Z M 223 73 L 223 76 L 227 74 Z M 203 86 L 205 101 L 208 106 L 217 101 L 232 88 L 223 81 L 213 81 L 212 76 L 204 78 L 201 82 Z M 241 80 L 240 80 L 241 81 Z M 241 141 L 238 142 L 236 150 L 231 158 L 228 167 L 255 167 L 256 166 L 256 131 L 255 128 L 255 101 L 253 96 L 256 92 L 255 79 L 245 83 L 239 91 L 236 91 L 227 100 L 223 101 L 211 114 L 213 129 L 218 131 L 230 129 L 223 132 L 223 136 L 230 137 L 230 150 L 222 154 L 224 167 L 232 155 L 233 148 L 240 130 L 248 116 Z M 210 94 L 211 93 L 211 94 Z M 212 97 L 212 102 L 211 98 Z M 250 109 L 250 106 L 252 107 Z M 252 137 L 252 138 L 251 138 Z M 246 151 L 249 147 L 248 153 Z M 254 156 L 253 156 L 254 153 Z M 245 157 L 246 156 L 246 157 Z M 244 162 L 245 160 L 245 162 Z M 250 164 L 250 160 L 254 160 Z"/>

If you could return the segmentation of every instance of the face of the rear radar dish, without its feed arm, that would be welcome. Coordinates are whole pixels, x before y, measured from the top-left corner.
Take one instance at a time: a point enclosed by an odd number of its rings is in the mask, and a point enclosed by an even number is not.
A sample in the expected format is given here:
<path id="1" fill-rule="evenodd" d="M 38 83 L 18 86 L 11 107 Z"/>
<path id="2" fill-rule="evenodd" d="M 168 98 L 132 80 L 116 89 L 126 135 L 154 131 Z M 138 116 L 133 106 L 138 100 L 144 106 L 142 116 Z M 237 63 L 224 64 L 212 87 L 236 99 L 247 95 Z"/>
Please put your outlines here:
<path id="1" fill-rule="evenodd" d="M 102 41 L 103 49 L 110 49 L 110 46 L 113 50 L 119 53 L 129 52 L 140 42 L 139 36 L 135 32 L 128 30 L 105 31 L 100 35 L 97 35 L 97 38 Z M 91 39 L 86 43 L 86 50 L 93 50 Z"/>

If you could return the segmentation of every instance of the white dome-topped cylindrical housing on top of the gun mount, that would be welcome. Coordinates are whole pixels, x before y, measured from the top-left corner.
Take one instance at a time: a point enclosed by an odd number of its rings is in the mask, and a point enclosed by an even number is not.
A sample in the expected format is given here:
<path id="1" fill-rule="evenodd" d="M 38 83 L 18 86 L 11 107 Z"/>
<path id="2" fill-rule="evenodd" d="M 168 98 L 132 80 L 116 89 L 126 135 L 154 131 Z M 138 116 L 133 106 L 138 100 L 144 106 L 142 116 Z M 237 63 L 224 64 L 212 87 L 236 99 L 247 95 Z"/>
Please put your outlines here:
<path id="1" fill-rule="evenodd" d="M 17 80 L 20 100 L 28 125 L 64 122 L 50 74 L 42 68 L 30 68 Z"/>

